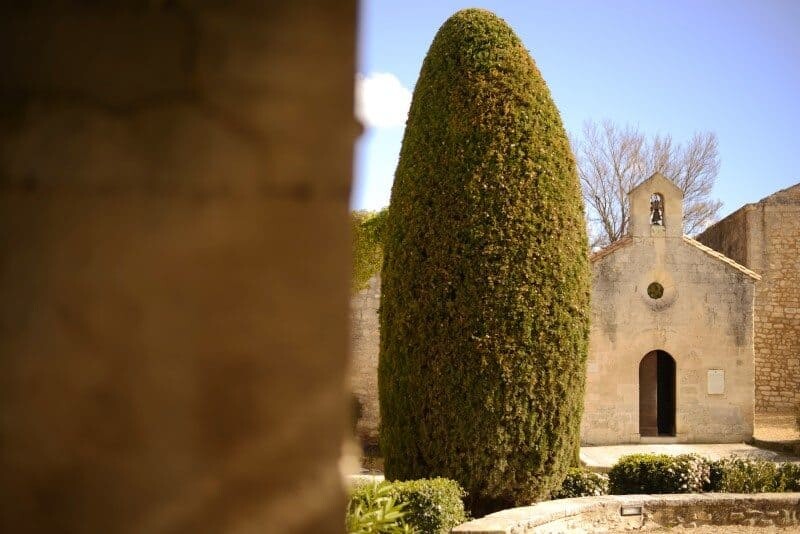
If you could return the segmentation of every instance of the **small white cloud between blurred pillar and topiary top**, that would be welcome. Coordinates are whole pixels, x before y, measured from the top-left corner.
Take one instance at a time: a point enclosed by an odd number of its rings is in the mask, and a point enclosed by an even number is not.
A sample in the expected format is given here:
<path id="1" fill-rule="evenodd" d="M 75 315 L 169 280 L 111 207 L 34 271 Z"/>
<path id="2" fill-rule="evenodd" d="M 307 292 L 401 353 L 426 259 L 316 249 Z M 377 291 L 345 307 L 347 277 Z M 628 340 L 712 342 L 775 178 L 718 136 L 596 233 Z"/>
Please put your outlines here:
<path id="1" fill-rule="evenodd" d="M 356 75 L 356 117 L 367 128 L 403 126 L 411 91 L 390 72 Z"/>

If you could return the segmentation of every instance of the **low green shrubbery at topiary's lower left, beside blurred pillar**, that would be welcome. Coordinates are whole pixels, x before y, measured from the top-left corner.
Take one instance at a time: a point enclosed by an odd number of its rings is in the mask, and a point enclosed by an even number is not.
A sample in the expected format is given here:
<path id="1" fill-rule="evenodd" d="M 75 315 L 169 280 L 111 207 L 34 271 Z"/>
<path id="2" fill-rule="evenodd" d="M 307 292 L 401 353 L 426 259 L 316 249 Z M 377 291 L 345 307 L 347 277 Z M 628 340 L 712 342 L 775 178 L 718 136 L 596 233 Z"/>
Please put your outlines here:
<path id="1" fill-rule="evenodd" d="M 375 504 L 380 496 L 382 501 Z M 381 482 L 366 484 L 353 490 L 348 507 L 348 518 L 352 510 L 373 511 L 372 516 L 386 517 L 382 507 L 401 506 L 402 518 L 393 528 L 407 529 L 396 532 L 422 532 L 446 534 L 450 529 L 467 520 L 462 498 L 465 493 L 458 483 L 444 478 L 410 480 L 405 482 Z M 362 516 L 365 515 L 362 513 Z M 370 517 L 372 517 L 370 516 Z M 392 516 L 394 517 L 394 516 Z M 348 519 L 349 521 L 349 519 Z M 349 525 L 350 523 L 348 523 Z M 374 532 L 395 532 L 376 530 Z"/>

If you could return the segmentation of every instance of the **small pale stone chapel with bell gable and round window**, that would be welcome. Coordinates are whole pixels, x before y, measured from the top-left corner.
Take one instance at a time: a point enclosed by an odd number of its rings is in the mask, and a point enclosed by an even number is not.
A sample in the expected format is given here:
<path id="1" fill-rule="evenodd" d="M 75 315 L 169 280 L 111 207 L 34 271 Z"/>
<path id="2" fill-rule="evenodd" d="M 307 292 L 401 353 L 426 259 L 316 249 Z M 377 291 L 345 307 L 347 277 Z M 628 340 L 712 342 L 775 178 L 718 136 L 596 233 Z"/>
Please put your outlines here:
<path id="1" fill-rule="evenodd" d="M 661 174 L 628 198 L 628 235 L 591 257 L 581 441 L 748 441 L 760 277 L 683 235 L 683 192 Z"/>

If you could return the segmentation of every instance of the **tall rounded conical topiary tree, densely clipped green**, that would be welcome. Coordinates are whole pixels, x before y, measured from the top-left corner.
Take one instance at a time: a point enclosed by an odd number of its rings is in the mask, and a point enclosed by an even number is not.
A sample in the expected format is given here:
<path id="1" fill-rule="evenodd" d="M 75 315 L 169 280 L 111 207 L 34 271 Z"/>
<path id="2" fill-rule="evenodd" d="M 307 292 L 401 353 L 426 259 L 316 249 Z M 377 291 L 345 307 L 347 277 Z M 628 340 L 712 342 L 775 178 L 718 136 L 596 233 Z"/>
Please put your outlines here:
<path id="1" fill-rule="evenodd" d="M 578 446 L 588 247 L 558 110 L 492 13 L 431 44 L 386 231 L 386 476 L 453 478 L 480 511 L 545 498 Z"/>

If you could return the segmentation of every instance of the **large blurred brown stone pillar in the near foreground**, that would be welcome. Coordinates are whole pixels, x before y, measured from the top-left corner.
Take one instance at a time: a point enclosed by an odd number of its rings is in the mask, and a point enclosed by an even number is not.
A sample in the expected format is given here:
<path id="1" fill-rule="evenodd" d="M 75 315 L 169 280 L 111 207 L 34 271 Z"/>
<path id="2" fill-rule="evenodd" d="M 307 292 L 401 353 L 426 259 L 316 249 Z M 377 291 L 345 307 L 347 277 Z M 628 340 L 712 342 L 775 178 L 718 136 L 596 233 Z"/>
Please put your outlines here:
<path id="1" fill-rule="evenodd" d="M 15 4 L 0 531 L 341 532 L 355 1 Z"/>

